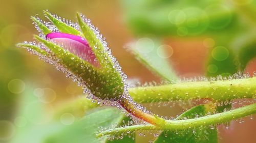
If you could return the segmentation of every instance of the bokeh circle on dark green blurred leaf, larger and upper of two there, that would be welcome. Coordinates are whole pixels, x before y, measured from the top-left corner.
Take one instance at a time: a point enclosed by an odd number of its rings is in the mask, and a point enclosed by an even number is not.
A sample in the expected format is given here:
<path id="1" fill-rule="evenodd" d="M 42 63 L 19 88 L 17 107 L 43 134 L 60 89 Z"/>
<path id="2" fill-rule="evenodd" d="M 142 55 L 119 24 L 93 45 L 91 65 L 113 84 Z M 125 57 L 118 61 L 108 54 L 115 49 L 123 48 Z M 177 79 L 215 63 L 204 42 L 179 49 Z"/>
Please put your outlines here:
<path id="1" fill-rule="evenodd" d="M 223 46 L 217 46 L 211 51 L 211 56 L 217 61 L 224 61 L 229 56 L 229 51 Z"/>

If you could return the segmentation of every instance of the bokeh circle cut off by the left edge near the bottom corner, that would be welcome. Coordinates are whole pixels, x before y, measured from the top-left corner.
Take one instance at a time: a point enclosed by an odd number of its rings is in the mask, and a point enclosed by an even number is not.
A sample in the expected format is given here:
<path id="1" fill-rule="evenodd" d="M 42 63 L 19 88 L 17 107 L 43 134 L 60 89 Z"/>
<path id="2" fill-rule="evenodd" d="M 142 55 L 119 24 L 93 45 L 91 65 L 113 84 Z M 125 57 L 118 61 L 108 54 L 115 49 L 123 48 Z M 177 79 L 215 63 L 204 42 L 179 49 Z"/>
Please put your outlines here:
<path id="1" fill-rule="evenodd" d="M 15 134 L 15 126 L 7 120 L 0 120 L 0 141 L 11 139 Z"/>

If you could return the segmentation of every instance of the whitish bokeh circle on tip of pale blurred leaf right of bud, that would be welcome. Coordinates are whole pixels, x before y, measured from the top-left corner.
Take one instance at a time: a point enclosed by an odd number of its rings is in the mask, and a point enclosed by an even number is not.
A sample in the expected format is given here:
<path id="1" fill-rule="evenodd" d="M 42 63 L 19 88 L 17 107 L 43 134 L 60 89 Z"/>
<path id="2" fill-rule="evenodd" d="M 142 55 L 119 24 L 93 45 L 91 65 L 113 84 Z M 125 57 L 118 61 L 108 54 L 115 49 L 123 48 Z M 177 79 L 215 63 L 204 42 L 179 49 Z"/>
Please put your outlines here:
<path id="1" fill-rule="evenodd" d="M 149 53 L 154 49 L 155 43 L 150 38 L 140 38 L 136 42 L 135 46 L 136 46 L 136 49 L 141 53 Z"/>

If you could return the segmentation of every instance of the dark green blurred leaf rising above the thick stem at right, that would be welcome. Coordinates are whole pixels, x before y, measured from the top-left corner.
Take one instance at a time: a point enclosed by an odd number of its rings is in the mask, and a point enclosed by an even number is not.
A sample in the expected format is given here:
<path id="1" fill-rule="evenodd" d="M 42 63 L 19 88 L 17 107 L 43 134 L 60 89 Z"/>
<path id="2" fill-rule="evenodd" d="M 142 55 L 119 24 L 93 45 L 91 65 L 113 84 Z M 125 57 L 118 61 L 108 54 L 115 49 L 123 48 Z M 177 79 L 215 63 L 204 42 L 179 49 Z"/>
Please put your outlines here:
<path id="1" fill-rule="evenodd" d="M 236 44 L 234 43 L 236 43 L 237 37 L 245 31 L 243 26 L 232 24 L 225 28 L 222 33 L 211 33 L 211 38 L 215 41 L 215 44 L 210 48 L 208 54 L 206 76 L 216 77 L 222 75 L 227 77 L 238 72 L 239 61 L 234 50 L 236 49 L 234 46 Z"/>

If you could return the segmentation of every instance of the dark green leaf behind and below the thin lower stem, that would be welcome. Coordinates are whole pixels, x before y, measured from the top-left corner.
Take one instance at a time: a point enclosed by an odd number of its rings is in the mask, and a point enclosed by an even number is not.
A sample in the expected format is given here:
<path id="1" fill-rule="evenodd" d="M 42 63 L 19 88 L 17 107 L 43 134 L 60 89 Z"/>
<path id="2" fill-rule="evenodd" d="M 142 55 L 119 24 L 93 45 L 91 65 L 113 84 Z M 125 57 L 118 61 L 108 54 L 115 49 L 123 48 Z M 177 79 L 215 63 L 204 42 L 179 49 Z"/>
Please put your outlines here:
<path id="1" fill-rule="evenodd" d="M 184 118 L 192 119 L 198 117 L 202 117 L 206 115 L 208 112 L 208 106 L 206 105 L 198 105 L 195 106 L 184 113 L 182 113 L 177 120 L 182 120 Z M 216 127 L 199 127 L 196 129 L 188 129 L 179 132 L 174 131 L 163 131 L 158 138 L 155 140 L 155 143 L 162 142 L 207 142 L 207 143 L 215 143 L 218 142 L 217 129 Z"/>

